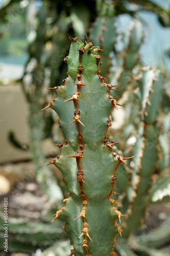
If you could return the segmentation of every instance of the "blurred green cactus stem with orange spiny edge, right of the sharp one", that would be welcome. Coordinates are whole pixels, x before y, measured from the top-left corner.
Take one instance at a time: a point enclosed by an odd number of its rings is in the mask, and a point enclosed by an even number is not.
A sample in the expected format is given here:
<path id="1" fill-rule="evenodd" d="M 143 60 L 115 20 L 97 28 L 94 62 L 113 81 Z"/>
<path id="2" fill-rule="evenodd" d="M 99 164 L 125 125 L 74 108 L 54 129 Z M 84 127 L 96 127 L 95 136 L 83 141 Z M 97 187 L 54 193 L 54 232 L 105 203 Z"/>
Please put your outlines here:
<path id="1" fill-rule="evenodd" d="M 129 218 L 125 222 L 123 234 L 126 238 L 132 230 L 140 226 L 140 220 L 145 217 L 145 208 L 150 201 L 152 174 L 159 160 L 159 126 L 156 117 L 163 95 L 162 78 L 161 72 L 151 67 L 142 68 L 138 76 L 137 94 L 141 102 L 141 122 L 133 149 L 136 157 L 131 185 L 127 190 L 131 205 L 127 211 Z"/>

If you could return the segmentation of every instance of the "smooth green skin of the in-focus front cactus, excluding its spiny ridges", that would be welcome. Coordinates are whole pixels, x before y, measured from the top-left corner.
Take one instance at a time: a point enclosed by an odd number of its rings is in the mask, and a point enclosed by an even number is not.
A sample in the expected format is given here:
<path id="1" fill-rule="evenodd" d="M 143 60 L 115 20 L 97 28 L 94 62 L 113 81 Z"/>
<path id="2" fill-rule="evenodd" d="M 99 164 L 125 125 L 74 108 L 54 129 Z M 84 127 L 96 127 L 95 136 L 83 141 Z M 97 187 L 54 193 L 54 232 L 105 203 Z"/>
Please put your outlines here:
<path id="1" fill-rule="evenodd" d="M 74 220 L 80 215 L 83 200 L 80 195 L 80 184 L 77 181 L 77 163 L 75 158 L 65 156 L 75 155 L 79 150 L 78 128 L 73 121 L 75 105 L 73 101 L 63 102 L 77 91 L 77 74 L 79 73 L 79 51 L 84 44 L 72 42 L 67 58 L 68 78 L 64 87 L 57 90 L 57 99 L 52 108 L 60 117 L 60 124 L 68 140 L 68 144 L 61 149 L 61 156 L 56 160 L 56 166 L 61 170 L 64 181 L 70 191 L 70 199 L 65 204 L 65 210 L 61 212 L 61 218 L 66 222 L 65 231 L 75 249 L 76 256 L 86 255 L 82 247 L 84 236 L 82 233 L 83 220 Z M 86 222 L 89 227 L 88 251 L 92 256 L 109 256 L 113 246 L 114 237 L 117 234 L 114 221 L 117 218 L 112 210 L 112 204 L 108 196 L 112 187 L 112 176 L 118 160 L 113 157 L 109 148 L 104 145 L 107 118 L 111 109 L 111 101 L 108 98 L 107 87 L 101 84 L 98 77 L 98 66 L 94 55 L 99 55 L 94 48 L 89 51 L 90 46 L 84 46 L 87 51 L 82 56 L 82 82 L 80 100 L 78 100 L 81 133 L 85 147 L 81 158 L 81 167 L 84 172 L 83 184 L 87 199 Z"/>

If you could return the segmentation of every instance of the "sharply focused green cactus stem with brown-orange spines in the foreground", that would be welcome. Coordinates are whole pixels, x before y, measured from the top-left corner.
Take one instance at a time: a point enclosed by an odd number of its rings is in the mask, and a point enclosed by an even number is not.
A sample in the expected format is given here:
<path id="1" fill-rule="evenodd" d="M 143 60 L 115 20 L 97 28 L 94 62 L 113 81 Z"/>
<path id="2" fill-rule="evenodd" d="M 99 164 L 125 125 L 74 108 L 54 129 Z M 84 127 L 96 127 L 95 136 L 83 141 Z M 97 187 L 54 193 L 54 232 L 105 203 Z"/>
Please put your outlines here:
<path id="1" fill-rule="evenodd" d="M 108 141 L 107 130 L 110 112 L 120 104 L 110 95 L 114 86 L 100 75 L 101 49 L 88 37 L 83 44 L 69 38 L 68 77 L 62 86 L 52 88 L 56 98 L 46 107 L 57 112 L 66 136 L 65 143 L 58 145 L 61 154 L 48 163 L 61 170 L 69 189 L 54 219 L 65 221 L 63 230 L 75 255 L 113 256 L 115 237 L 122 231 L 116 220 L 124 216 L 115 207 L 113 186 L 115 172 L 127 158 L 112 152 L 116 142 Z"/>

